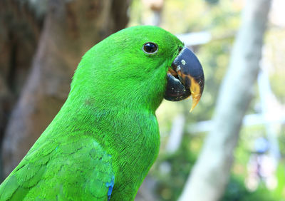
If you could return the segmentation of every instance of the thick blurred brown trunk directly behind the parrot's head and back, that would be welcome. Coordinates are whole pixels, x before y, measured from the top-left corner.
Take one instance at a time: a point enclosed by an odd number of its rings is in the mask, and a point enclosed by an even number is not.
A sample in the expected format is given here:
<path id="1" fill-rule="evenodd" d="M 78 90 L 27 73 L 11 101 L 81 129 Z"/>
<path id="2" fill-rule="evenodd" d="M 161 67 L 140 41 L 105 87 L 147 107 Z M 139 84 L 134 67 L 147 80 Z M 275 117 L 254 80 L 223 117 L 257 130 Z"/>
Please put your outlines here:
<path id="1" fill-rule="evenodd" d="M 48 1 L 43 31 L 19 102 L 6 129 L 2 157 L 9 175 L 63 105 L 83 54 L 128 23 L 129 1 Z"/>

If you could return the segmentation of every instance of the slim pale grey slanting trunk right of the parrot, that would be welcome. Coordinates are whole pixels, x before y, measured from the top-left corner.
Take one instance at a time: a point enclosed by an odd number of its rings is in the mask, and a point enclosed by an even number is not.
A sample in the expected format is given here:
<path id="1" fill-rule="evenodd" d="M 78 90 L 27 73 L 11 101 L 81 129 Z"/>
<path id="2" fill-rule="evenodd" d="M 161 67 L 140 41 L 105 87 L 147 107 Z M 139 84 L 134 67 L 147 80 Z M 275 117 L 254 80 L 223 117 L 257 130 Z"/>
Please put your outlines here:
<path id="1" fill-rule="evenodd" d="M 222 81 L 213 130 L 207 135 L 180 200 L 219 200 L 229 179 L 242 118 L 252 99 L 270 0 L 248 0 L 229 70 Z"/>

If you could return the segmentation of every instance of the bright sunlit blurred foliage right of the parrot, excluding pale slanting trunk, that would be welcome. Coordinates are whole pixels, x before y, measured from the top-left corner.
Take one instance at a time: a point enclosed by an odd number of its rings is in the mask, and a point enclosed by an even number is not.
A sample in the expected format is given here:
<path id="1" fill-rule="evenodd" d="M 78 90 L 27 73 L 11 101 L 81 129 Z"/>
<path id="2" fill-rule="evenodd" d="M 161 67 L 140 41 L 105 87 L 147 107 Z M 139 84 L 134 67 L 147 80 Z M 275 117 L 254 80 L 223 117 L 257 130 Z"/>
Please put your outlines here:
<path id="1" fill-rule="evenodd" d="M 229 65 L 244 4 L 242 0 L 137 0 L 130 6 L 129 26 L 152 24 L 175 33 L 197 53 L 205 73 L 204 93 L 192 113 L 191 100 L 165 100 L 157 110 L 160 155 L 147 179 L 154 180 L 159 200 L 177 200 L 180 196 L 211 130 L 219 84 Z M 271 4 L 262 71 L 244 116 L 222 200 L 285 199 L 285 2 L 275 0 Z"/>

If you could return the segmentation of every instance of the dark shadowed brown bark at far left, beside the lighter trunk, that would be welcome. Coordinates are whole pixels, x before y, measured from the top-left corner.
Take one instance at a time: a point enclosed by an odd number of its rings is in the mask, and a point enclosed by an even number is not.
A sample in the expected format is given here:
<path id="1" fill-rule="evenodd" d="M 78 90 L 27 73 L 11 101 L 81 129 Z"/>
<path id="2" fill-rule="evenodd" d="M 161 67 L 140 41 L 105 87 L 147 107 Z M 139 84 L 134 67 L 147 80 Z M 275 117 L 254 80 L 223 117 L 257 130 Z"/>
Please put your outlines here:
<path id="1" fill-rule="evenodd" d="M 0 1 L 0 142 L 31 66 L 41 21 L 28 10 L 26 2 Z"/>

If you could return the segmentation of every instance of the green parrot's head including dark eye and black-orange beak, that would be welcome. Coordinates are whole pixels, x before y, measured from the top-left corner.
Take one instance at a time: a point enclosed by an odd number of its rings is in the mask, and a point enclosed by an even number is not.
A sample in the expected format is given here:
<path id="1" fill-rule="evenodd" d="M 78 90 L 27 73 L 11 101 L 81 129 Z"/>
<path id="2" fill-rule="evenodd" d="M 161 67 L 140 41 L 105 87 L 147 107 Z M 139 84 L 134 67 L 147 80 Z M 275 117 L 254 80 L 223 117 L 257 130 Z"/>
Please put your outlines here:
<path id="1" fill-rule="evenodd" d="M 157 26 L 133 26 L 105 38 L 83 56 L 71 91 L 76 86 L 103 105 L 145 105 L 153 110 L 163 98 L 192 96 L 192 110 L 202 96 L 204 73 L 195 54 L 172 33 Z"/>

